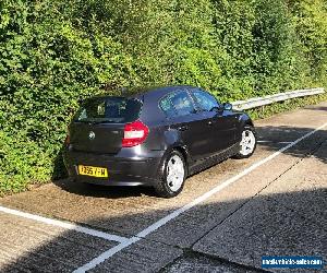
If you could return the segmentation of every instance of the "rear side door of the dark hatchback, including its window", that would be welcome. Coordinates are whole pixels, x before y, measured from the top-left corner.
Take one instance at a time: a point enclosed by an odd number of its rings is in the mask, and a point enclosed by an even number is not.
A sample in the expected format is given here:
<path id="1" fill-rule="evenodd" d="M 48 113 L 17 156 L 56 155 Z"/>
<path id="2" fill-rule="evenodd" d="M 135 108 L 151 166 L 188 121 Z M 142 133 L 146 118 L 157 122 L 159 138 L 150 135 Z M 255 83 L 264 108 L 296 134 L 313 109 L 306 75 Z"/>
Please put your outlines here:
<path id="1" fill-rule="evenodd" d="M 189 92 L 172 92 L 160 99 L 159 106 L 169 119 L 170 130 L 178 130 L 179 138 L 186 145 L 192 159 L 203 158 L 209 145 L 206 127 L 203 124 L 203 115 L 196 111 Z"/>

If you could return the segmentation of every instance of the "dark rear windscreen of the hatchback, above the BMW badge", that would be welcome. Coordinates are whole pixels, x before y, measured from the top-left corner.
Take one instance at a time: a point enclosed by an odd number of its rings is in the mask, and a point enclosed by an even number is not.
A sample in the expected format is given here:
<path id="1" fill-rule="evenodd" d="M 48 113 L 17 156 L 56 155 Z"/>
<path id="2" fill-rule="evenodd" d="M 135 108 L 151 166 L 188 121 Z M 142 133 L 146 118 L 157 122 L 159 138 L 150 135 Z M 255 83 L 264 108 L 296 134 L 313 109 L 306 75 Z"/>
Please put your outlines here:
<path id="1" fill-rule="evenodd" d="M 142 103 L 136 98 L 90 98 L 82 104 L 74 120 L 81 122 L 125 123 L 138 118 Z"/>

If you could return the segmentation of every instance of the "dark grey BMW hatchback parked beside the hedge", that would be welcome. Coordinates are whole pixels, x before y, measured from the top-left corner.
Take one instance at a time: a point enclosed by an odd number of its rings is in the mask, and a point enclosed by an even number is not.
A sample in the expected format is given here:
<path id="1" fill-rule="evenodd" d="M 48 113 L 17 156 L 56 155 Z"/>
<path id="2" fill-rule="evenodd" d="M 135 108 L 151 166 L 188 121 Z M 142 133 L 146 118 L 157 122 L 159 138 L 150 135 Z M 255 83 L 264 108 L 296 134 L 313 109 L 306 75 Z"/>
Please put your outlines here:
<path id="1" fill-rule="evenodd" d="M 63 158 L 76 182 L 179 194 L 185 178 L 256 147 L 251 118 L 193 86 L 92 97 L 69 126 Z"/>

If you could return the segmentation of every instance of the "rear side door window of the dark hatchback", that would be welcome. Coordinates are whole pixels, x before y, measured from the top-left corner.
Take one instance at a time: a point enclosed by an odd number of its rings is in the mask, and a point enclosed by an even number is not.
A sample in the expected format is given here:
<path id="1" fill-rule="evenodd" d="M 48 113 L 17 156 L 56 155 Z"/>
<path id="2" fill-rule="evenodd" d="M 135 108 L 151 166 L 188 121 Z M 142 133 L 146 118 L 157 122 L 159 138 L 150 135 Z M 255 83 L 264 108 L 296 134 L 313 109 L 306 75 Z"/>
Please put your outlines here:
<path id="1" fill-rule="evenodd" d="M 159 106 L 168 117 L 186 116 L 195 112 L 189 93 L 184 91 L 165 96 L 160 100 Z"/>

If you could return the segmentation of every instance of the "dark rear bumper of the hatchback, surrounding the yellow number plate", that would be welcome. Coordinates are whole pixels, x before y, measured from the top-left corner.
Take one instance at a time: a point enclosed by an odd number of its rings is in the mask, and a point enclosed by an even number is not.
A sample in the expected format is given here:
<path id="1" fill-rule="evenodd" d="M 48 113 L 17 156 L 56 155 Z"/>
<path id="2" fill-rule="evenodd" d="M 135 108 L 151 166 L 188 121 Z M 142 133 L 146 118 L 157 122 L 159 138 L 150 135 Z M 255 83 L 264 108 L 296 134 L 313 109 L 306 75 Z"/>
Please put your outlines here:
<path id="1" fill-rule="evenodd" d="M 126 156 L 126 152 L 116 155 L 95 154 L 70 151 L 63 152 L 63 161 L 69 176 L 77 182 L 104 186 L 154 186 L 158 182 L 158 174 L 164 151 L 152 151 L 146 156 Z M 78 165 L 105 167 L 108 178 L 97 178 L 78 174 Z"/>

